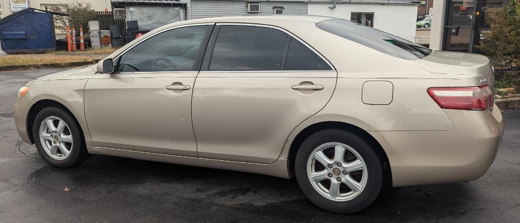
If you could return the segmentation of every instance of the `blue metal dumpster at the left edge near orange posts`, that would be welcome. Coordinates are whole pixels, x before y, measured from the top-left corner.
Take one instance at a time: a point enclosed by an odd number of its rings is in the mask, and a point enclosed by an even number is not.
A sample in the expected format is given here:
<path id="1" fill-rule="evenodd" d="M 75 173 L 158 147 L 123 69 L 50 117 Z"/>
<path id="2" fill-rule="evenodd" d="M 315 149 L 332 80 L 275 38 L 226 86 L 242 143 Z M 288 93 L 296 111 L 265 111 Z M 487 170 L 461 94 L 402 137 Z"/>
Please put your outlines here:
<path id="1" fill-rule="evenodd" d="M 41 12 L 38 12 L 41 11 Z M 6 53 L 56 51 L 53 14 L 27 8 L 0 20 L 0 44 Z"/>

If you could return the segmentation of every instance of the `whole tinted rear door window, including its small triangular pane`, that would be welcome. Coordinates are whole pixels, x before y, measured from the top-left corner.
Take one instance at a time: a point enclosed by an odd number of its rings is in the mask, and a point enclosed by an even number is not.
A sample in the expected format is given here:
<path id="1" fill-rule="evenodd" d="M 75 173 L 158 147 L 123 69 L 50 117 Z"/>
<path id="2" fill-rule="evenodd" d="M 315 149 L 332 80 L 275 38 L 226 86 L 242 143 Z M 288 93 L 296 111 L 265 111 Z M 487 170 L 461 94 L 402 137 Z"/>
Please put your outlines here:
<path id="1" fill-rule="evenodd" d="M 287 33 L 269 27 L 223 25 L 210 71 L 317 71 L 332 68 Z"/>

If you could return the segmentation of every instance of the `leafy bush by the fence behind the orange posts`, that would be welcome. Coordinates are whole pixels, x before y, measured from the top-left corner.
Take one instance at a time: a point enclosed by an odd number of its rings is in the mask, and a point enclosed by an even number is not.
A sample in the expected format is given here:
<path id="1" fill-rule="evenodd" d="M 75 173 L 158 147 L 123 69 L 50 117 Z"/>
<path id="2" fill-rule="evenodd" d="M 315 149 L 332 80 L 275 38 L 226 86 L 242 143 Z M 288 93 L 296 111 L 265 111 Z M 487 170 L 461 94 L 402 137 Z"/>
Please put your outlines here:
<path id="1" fill-rule="evenodd" d="M 83 32 L 88 31 L 88 21 L 92 20 L 96 11 L 92 8 L 91 3 L 67 1 L 58 2 L 58 5 L 51 6 L 50 11 L 67 13 L 70 16 L 54 16 L 54 25 L 56 29 L 67 31 L 67 25 L 74 26 L 76 33 L 79 34 L 80 25 L 83 25 Z M 71 28 L 72 29 L 72 28 Z"/>

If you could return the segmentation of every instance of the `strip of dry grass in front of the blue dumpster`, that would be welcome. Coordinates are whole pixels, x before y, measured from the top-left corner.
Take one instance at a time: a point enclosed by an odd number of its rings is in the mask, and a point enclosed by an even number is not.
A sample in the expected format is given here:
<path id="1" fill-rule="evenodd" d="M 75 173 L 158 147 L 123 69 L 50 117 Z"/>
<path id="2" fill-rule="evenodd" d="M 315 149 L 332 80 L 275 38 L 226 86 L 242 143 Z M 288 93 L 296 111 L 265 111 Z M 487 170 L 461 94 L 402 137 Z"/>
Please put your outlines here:
<path id="1" fill-rule="evenodd" d="M 93 58 L 82 55 L 53 55 L 53 54 L 17 54 L 0 56 L 0 66 L 28 66 L 38 67 L 46 63 L 71 63 L 92 61 Z"/>

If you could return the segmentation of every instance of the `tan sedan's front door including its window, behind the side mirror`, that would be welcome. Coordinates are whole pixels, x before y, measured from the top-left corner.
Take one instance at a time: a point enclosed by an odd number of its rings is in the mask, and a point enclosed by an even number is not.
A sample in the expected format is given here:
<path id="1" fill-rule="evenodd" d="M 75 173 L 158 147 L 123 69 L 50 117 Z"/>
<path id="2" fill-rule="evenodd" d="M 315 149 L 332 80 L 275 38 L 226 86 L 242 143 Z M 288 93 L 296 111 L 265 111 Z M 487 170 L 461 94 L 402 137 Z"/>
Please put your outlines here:
<path id="1" fill-rule="evenodd" d="M 197 157 L 191 95 L 213 25 L 166 30 L 122 53 L 85 86 L 96 147 Z"/>

